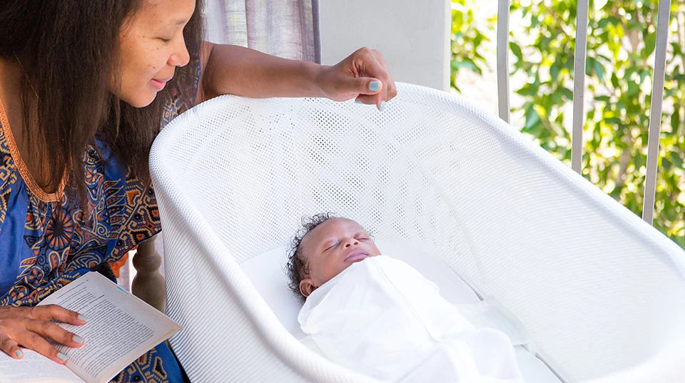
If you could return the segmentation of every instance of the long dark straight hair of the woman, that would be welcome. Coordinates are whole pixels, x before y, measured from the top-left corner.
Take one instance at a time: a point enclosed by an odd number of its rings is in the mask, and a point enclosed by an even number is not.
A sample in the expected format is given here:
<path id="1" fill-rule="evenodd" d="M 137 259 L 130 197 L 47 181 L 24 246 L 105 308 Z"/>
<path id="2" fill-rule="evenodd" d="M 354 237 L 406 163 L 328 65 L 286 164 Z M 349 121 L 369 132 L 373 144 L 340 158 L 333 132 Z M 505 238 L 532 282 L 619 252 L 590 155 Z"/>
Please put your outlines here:
<path id="1" fill-rule="evenodd" d="M 36 177 L 41 188 L 56 188 L 70 172 L 70 189 L 85 200 L 83 155 L 98 136 L 116 158 L 149 181 L 148 154 L 159 131 L 163 105 L 194 88 L 202 36 L 201 1 L 183 31 L 191 63 L 145 108 L 134 108 L 108 90 L 118 59 L 119 33 L 144 0 L 2 0 L 0 57 L 19 61 L 24 134 L 29 159 L 49 165 Z M 34 91 L 38 96 L 35 99 Z M 31 119 L 31 116 L 34 116 Z M 37 121 L 36 117 L 37 116 Z M 29 127 L 29 123 L 34 126 Z M 35 125 L 37 124 L 37 126 Z"/>

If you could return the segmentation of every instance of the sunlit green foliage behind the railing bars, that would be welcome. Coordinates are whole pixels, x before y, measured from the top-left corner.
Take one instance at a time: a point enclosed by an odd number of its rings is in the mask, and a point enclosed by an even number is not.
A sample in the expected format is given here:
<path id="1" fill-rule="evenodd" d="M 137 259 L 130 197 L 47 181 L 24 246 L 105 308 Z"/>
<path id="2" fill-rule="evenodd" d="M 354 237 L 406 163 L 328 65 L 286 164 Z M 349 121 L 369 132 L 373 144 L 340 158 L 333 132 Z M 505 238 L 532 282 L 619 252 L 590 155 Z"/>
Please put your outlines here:
<path id="1" fill-rule="evenodd" d="M 451 83 L 494 81 L 497 2 L 452 0 Z M 571 165 L 576 1 L 511 0 L 512 125 Z M 582 174 L 642 212 L 657 1 L 590 0 Z M 476 14 L 474 11 L 477 11 Z M 685 247 L 685 1 L 671 5 L 654 226 Z M 497 100 L 492 100 L 496 106 Z"/>

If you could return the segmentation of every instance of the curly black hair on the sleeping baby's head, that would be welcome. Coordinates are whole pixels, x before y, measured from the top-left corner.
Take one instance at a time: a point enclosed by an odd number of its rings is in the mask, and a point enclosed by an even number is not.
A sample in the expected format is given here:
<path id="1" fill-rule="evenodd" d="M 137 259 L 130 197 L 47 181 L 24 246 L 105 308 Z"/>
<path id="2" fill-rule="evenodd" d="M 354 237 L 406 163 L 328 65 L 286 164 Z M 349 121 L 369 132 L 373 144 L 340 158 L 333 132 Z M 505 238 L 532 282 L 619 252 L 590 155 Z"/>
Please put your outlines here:
<path id="1" fill-rule="evenodd" d="M 302 218 L 302 228 L 298 230 L 292 240 L 290 240 L 290 249 L 288 249 L 288 263 L 285 264 L 285 273 L 288 275 L 288 287 L 290 291 L 295 293 L 300 298 L 300 302 L 305 302 L 306 297 L 300 292 L 300 281 L 309 275 L 309 262 L 307 257 L 300 251 L 300 244 L 305 235 L 331 218 L 338 218 L 333 213 L 319 213 L 312 217 Z"/>

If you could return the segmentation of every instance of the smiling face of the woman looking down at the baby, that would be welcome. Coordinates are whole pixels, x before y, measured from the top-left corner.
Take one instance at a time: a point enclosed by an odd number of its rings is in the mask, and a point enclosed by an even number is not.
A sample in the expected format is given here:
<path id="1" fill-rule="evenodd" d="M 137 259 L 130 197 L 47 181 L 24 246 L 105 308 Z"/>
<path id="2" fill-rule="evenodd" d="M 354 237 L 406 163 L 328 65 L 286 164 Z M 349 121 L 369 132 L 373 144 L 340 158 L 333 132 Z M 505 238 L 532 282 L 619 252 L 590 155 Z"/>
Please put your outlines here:
<path id="1" fill-rule="evenodd" d="M 136 108 L 148 106 L 176 67 L 190 60 L 183 27 L 193 16 L 196 0 L 141 1 L 121 29 L 119 63 L 110 83 L 115 96 Z"/>

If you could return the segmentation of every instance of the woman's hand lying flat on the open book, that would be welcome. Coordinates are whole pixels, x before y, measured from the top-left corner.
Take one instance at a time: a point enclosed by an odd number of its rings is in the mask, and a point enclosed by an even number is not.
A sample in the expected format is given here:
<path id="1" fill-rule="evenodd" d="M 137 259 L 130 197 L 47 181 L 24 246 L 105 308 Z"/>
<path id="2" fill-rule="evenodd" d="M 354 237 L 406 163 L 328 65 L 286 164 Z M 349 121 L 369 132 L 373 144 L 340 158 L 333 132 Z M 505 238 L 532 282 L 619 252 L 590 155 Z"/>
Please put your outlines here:
<path id="1" fill-rule="evenodd" d="M 66 355 L 52 347 L 45 338 L 68 347 L 80 347 L 83 345 L 83 338 L 64 330 L 51 320 L 71 325 L 86 323 L 78 312 L 66 310 L 58 305 L 0 307 L 0 350 L 14 359 L 21 359 L 21 344 L 22 347 L 33 349 L 55 362 L 64 364 Z"/>

